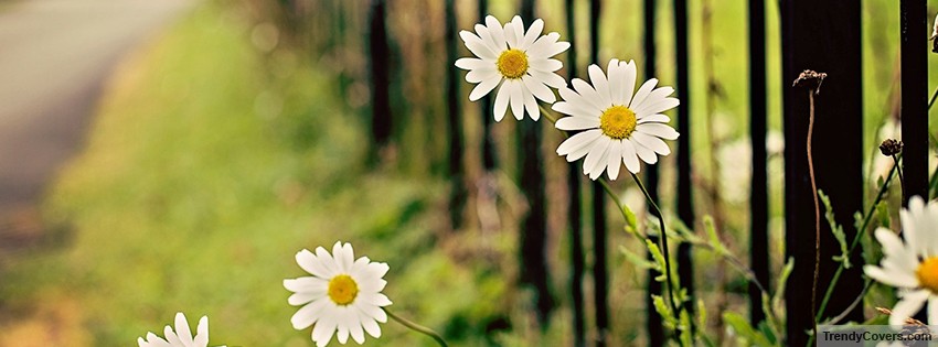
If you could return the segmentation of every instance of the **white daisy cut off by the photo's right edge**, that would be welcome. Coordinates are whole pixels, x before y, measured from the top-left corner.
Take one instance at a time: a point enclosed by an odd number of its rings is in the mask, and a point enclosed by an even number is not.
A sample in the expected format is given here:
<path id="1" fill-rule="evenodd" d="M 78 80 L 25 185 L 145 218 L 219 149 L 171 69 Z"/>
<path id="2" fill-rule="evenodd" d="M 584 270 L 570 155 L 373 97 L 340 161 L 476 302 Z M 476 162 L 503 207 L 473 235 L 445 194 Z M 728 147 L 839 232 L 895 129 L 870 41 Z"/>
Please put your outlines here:
<path id="1" fill-rule="evenodd" d="M 938 323 L 938 203 L 927 205 L 913 196 L 908 208 L 899 213 L 903 241 L 895 232 L 876 229 L 876 240 L 883 246 L 880 267 L 864 265 L 863 272 L 881 283 L 899 290 L 902 300 L 893 307 L 889 325 L 904 325 L 909 316 L 928 302 L 928 323 Z"/>

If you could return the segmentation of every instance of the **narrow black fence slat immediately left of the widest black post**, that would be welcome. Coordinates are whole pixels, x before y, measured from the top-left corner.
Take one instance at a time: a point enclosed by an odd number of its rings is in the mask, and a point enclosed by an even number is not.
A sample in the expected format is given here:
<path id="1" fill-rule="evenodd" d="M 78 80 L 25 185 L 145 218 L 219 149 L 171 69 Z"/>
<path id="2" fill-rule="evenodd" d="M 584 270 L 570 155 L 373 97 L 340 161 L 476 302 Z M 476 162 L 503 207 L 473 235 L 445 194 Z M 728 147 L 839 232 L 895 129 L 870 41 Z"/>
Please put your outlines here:
<path id="1" fill-rule="evenodd" d="M 753 176 L 749 191 L 749 265 L 756 279 L 769 284 L 768 173 L 766 172 L 766 4 L 749 0 L 749 143 Z M 749 284 L 749 322 L 765 319 L 761 292 Z"/>

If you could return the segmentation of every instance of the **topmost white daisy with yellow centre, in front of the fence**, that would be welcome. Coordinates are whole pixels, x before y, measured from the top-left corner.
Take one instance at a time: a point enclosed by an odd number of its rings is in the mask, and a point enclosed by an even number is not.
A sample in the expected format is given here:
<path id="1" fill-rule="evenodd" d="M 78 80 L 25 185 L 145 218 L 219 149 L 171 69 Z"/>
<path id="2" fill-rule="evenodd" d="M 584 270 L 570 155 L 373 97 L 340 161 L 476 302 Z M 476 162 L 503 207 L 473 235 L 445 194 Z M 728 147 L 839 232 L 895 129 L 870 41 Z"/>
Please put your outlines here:
<path id="1" fill-rule="evenodd" d="M 476 24 L 476 33 L 466 30 L 459 33 L 466 47 L 478 57 L 456 61 L 457 67 L 469 71 L 466 80 L 478 84 L 469 94 L 469 100 L 482 98 L 501 84 L 495 94 L 495 121 L 504 118 L 509 104 L 518 120 L 524 118 L 525 110 L 531 119 L 537 120 L 541 110 L 535 98 L 553 104 L 556 97 L 547 86 L 566 86 L 566 80 L 556 74 L 563 63 L 551 57 L 569 48 L 569 43 L 557 42 L 561 34 L 554 32 L 542 36 L 542 30 L 544 21 L 541 19 L 531 23 L 525 32 L 519 15 L 504 26 L 489 15 L 486 25 Z"/>

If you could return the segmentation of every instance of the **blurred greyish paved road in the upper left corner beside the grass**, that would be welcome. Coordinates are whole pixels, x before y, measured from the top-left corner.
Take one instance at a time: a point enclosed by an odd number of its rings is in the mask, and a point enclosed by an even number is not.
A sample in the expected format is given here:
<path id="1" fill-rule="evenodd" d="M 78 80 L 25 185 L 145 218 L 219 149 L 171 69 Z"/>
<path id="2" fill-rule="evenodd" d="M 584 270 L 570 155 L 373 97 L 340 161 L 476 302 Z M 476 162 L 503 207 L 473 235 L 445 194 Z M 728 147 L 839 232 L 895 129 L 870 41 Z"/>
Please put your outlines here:
<path id="1" fill-rule="evenodd" d="M 29 210 L 81 149 L 111 67 L 192 2 L 20 0 L 0 8 L 0 223 Z"/>

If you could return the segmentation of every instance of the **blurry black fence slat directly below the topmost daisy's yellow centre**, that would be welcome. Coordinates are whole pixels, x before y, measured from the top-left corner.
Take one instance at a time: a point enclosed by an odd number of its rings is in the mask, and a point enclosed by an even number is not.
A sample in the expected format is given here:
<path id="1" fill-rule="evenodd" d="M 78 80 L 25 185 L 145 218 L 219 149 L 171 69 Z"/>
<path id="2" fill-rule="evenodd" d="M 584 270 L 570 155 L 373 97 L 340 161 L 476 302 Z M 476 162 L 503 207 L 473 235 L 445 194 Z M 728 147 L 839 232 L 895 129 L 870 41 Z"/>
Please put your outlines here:
<path id="1" fill-rule="evenodd" d="M 520 13 L 525 25 L 530 24 L 534 19 L 534 0 L 523 0 Z M 527 119 L 518 122 L 521 141 L 518 147 L 521 159 L 519 181 L 530 206 L 520 225 L 520 256 L 522 282 L 534 286 L 537 319 L 542 327 L 546 327 L 551 311 L 554 308 L 554 301 L 547 270 L 547 216 L 545 215 L 544 165 L 541 155 L 542 126 Z"/>

